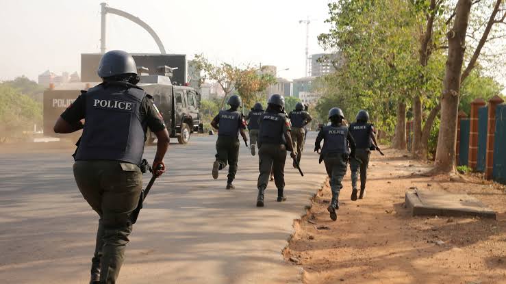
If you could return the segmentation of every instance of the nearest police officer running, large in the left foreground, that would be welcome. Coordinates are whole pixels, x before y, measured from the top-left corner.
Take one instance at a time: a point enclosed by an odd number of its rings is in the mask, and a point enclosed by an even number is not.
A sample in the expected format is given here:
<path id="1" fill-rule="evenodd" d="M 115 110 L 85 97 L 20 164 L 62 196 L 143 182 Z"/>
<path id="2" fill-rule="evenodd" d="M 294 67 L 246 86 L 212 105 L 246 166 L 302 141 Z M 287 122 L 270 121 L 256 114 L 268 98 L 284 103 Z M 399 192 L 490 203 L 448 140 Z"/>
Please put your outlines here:
<path id="1" fill-rule="evenodd" d="M 99 214 L 90 283 L 116 283 L 132 230 L 131 212 L 142 188 L 140 163 L 147 129 L 158 138 L 154 175 L 165 170 L 168 132 L 152 97 L 136 86 L 134 58 L 109 51 L 100 61 L 103 79 L 82 92 L 55 122 L 56 133 L 83 129 L 73 166 L 77 187 Z M 85 119 L 86 125 L 80 120 Z"/>

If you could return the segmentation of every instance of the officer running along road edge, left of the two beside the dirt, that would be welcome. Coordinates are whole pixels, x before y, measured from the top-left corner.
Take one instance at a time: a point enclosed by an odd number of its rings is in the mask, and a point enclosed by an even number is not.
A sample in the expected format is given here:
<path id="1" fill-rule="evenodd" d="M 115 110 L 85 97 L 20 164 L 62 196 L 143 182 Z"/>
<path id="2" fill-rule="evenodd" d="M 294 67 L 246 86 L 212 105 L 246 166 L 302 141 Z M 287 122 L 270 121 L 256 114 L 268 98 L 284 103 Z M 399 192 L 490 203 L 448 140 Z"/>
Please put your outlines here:
<path id="1" fill-rule="evenodd" d="M 320 142 L 323 140 L 323 148 L 320 152 L 320 163 L 325 163 L 325 169 L 330 177 L 332 201 L 327 208 L 330 218 L 338 220 L 336 209 L 339 209 L 339 192 L 342 188 L 342 178 L 346 175 L 349 156 L 355 157 L 355 141 L 348 131 L 348 127 L 342 124 L 344 114 L 338 107 L 332 107 L 329 111 L 331 125 L 324 126 L 316 137 L 314 151 L 320 151 Z M 350 151 L 351 149 L 351 151 Z"/>

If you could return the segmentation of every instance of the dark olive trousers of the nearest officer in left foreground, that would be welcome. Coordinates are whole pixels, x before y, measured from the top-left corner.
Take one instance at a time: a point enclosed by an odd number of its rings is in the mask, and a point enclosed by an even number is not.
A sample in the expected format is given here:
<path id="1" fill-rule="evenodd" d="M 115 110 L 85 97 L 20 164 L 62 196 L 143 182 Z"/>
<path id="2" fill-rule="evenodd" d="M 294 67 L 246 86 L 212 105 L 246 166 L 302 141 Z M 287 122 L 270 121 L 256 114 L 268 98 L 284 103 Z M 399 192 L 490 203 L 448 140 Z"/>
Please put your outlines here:
<path id="1" fill-rule="evenodd" d="M 100 217 L 91 281 L 114 284 L 125 259 L 142 173 L 134 164 L 110 160 L 76 161 L 73 171 L 79 191 Z"/>

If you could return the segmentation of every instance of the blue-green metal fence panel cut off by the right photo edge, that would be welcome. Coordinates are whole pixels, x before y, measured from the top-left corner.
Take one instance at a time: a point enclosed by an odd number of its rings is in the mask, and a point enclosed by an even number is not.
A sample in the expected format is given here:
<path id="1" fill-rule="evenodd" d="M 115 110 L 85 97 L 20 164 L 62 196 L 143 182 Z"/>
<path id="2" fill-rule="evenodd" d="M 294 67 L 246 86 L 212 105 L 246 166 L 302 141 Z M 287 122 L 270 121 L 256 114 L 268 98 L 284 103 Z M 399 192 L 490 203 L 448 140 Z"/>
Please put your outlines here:
<path id="1" fill-rule="evenodd" d="M 496 108 L 496 131 L 494 138 L 494 170 L 492 176 L 506 183 L 506 105 Z"/>

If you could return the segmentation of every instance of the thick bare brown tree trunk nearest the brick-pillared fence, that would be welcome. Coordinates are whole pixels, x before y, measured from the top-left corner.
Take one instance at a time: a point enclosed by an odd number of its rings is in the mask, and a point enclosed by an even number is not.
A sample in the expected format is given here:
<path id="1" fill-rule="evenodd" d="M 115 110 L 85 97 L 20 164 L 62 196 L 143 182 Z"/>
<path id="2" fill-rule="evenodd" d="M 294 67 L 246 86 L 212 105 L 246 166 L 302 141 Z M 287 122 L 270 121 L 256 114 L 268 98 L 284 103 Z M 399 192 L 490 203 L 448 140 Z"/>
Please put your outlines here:
<path id="1" fill-rule="evenodd" d="M 455 10 L 455 22 L 447 34 L 448 59 L 446 60 L 446 73 L 441 95 L 441 125 L 433 173 L 455 172 L 460 78 L 466 48 L 471 0 L 459 0 Z"/>

